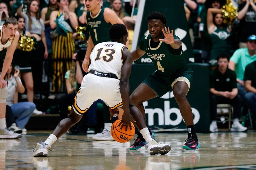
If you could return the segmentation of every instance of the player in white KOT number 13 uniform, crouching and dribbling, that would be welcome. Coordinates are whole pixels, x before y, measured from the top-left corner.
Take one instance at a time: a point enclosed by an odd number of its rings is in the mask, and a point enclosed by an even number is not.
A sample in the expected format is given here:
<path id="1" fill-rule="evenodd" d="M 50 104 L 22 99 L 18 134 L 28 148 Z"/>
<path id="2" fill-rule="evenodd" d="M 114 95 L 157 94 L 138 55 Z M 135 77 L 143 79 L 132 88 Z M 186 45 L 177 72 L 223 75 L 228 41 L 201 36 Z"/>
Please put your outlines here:
<path id="1" fill-rule="evenodd" d="M 131 115 L 138 125 L 140 133 L 147 142 L 148 152 L 166 154 L 171 150 L 167 144 L 159 144 L 152 139 L 146 122 L 139 109 L 129 100 L 129 76 L 132 66 L 132 55 L 125 47 L 127 30 L 123 24 L 114 24 L 109 29 L 111 41 L 97 44 L 90 54 L 89 74 L 85 75 L 74 99 L 68 118 L 60 121 L 52 134 L 37 143 L 33 149 L 35 157 L 47 156 L 51 145 L 68 129 L 82 118 L 82 115 L 95 100 L 103 100 L 111 109 L 122 107 L 121 128 L 131 129 Z M 121 74 L 121 77 L 119 75 Z M 120 79 L 120 80 L 119 80 Z M 124 127 L 123 127 L 124 126 Z"/>

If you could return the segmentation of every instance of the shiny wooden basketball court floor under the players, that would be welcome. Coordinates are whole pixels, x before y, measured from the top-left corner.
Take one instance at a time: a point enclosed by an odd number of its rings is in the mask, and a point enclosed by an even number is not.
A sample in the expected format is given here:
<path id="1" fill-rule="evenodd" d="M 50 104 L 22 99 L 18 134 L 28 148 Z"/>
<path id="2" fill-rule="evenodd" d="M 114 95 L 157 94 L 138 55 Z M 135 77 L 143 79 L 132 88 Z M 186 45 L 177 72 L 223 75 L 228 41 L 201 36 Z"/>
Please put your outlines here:
<path id="1" fill-rule="evenodd" d="M 63 135 L 48 152 L 35 158 L 32 148 L 52 131 L 28 131 L 20 139 L 0 140 L 0 169 L 256 169 L 256 132 L 198 133 L 198 151 L 182 149 L 187 133 L 156 133 L 170 144 L 166 155 L 150 155 L 145 147 L 131 151 L 128 143 L 94 141 L 92 135 Z"/>

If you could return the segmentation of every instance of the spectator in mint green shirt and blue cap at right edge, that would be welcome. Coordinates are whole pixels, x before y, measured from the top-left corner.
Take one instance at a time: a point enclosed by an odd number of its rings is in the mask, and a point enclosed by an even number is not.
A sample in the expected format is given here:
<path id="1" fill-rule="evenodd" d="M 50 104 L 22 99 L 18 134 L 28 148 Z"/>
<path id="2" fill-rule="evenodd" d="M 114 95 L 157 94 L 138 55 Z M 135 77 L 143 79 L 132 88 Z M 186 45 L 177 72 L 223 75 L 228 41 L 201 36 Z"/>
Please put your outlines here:
<path id="1" fill-rule="evenodd" d="M 243 81 L 245 67 L 246 65 L 256 61 L 256 45 L 253 40 L 255 40 L 255 35 L 249 36 L 246 42 L 247 48 L 237 49 L 230 58 L 230 62 L 228 64 L 228 68 L 236 72 L 238 93 L 243 99 L 246 93 Z"/>

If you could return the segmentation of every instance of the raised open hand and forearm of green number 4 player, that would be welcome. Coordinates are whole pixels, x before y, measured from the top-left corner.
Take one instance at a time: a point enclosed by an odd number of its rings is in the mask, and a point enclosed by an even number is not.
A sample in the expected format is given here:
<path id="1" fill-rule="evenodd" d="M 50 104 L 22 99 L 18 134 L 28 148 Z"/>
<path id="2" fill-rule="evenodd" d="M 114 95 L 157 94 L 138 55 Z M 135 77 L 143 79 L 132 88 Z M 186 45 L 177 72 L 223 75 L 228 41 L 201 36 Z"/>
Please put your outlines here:
<path id="1" fill-rule="evenodd" d="M 181 47 L 181 41 L 179 39 L 174 39 L 173 37 L 173 30 L 170 32 L 170 28 L 162 28 L 162 31 L 164 33 L 164 39 L 159 39 L 159 41 L 163 41 L 166 44 L 170 44 L 172 48 L 179 49 Z"/>

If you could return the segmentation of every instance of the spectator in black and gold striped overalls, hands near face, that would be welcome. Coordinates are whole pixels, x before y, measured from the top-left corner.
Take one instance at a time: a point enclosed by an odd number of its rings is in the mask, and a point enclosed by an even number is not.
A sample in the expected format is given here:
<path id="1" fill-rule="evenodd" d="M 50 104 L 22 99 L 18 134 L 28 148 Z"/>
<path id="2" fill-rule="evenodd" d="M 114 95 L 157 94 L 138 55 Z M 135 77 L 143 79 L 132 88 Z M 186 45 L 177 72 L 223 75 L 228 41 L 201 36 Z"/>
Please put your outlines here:
<path id="1" fill-rule="evenodd" d="M 53 62 L 52 92 L 60 92 L 64 74 L 70 69 L 75 53 L 72 32 L 78 26 L 76 14 L 68 9 L 68 0 L 57 0 L 57 4 L 59 11 L 52 11 L 50 16 L 50 26 L 57 33 L 52 39 L 52 58 L 57 59 Z M 63 22 L 66 27 L 60 27 L 55 20 Z M 62 33 L 64 29 L 65 33 Z"/>

